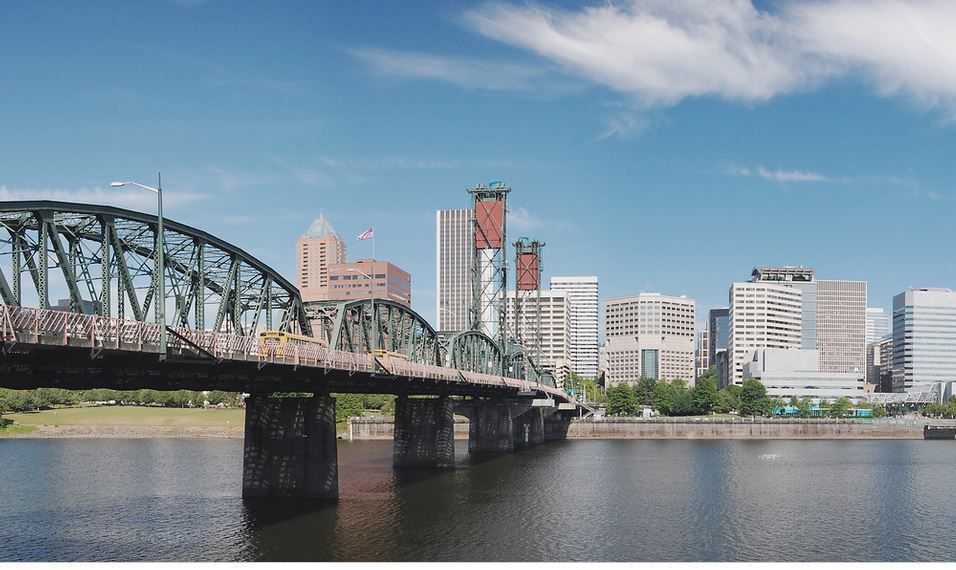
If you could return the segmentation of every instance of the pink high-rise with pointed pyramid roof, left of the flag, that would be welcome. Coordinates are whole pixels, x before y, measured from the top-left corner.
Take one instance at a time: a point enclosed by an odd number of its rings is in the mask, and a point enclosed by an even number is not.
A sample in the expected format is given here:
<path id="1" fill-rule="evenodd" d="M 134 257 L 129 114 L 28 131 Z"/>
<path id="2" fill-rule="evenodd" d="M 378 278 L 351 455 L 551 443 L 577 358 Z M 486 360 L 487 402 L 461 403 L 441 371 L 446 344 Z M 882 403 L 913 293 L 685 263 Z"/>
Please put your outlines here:
<path id="1" fill-rule="evenodd" d="M 329 266 L 345 263 L 345 242 L 319 214 L 296 241 L 296 279 L 303 301 L 329 299 Z"/>

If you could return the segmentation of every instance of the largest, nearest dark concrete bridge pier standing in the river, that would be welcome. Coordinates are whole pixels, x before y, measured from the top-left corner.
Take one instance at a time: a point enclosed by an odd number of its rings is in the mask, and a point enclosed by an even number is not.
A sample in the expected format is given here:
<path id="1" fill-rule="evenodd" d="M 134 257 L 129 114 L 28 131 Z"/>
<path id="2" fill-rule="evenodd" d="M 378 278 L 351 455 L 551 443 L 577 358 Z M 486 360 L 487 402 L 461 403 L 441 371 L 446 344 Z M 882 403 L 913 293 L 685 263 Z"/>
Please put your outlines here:
<path id="1" fill-rule="evenodd" d="M 246 399 L 243 497 L 336 499 L 335 398 Z"/>

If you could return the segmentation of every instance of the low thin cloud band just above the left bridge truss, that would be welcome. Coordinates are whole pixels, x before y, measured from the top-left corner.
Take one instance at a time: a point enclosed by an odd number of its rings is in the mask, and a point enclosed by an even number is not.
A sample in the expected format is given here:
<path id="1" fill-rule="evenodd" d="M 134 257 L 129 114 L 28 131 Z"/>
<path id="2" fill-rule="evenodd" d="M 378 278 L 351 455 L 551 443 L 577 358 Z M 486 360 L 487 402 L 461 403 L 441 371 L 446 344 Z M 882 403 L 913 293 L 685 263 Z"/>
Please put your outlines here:
<path id="1" fill-rule="evenodd" d="M 205 200 L 207 194 L 201 192 L 182 192 L 163 190 L 163 205 L 176 208 Z M 156 195 L 145 191 L 125 188 L 78 187 L 78 188 L 28 188 L 11 187 L 0 184 L 0 201 L 14 200 L 55 200 L 60 202 L 78 202 L 129 208 L 139 211 L 153 211 L 156 208 Z"/>

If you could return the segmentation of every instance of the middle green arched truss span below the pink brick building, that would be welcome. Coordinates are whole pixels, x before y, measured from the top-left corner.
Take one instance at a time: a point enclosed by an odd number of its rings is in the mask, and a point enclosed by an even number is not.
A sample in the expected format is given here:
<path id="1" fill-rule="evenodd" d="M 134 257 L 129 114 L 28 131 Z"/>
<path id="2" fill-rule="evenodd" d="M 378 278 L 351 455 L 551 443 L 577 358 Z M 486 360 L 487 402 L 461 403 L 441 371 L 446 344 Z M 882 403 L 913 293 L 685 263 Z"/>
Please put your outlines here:
<path id="1" fill-rule="evenodd" d="M 372 307 L 374 306 L 374 314 Z M 438 333 L 412 309 L 386 299 L 305 303 L 317 338 L 330 348 L 368 353 L 373 348 L 399 353 L 409 362 L 440 366 Z"/>

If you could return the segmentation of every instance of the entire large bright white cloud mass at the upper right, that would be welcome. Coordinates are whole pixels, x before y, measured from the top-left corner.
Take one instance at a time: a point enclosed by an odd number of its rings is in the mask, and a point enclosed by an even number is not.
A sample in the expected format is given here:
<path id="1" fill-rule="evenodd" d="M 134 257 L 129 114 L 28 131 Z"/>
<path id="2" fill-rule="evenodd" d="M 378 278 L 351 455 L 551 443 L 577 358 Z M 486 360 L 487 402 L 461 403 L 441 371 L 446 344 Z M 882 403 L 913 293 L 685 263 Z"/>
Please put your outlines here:
<path id="1" fill-rule="evenodd" d="M 904 95 L 956 119 L 956 3 L 804 0 L 774 7 L 631 0 L 568 10 L 491 2 L 462 20 L 642 107 L 702 96 L 760 102 L 860 77 L 881 95 Z"/>

